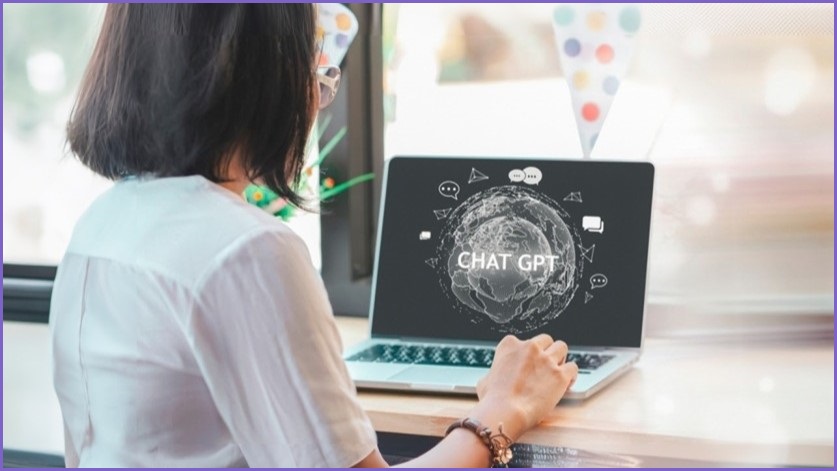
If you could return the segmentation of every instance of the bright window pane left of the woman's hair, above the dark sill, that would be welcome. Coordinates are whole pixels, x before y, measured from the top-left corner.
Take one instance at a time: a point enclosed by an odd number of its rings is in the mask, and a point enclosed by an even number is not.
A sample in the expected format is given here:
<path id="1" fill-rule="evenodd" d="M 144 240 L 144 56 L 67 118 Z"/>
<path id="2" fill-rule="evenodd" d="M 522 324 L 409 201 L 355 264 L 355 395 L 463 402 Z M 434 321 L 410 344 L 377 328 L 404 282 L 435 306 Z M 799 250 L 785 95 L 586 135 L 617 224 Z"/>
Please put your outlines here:
<path id="1" fill-rule="evenodd" d="M 113 184 L 65 145 L 105 5 L 3 5 L 3 263 L 56 265 L 87 206 Z M 327 136 L 334 134 L 331 128 Z M 312 149 L 313 150 L 313 149 Z M 291 225 L 320 267 L 320 219 Z"/>

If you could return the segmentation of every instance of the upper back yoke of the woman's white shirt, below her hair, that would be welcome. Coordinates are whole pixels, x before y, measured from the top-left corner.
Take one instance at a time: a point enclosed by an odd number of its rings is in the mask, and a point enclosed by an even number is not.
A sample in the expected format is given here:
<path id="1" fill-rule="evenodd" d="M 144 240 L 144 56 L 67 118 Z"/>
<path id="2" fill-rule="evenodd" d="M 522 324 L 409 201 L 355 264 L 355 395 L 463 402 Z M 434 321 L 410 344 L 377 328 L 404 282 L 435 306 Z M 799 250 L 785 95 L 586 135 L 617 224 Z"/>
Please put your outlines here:
<path id="1" fill-rule="evenodd" d="M 202 177 L 117 183 L 76 224 L 68 252 L 192 285 L 222 259 L 305 246 L 284 222 Z"/>

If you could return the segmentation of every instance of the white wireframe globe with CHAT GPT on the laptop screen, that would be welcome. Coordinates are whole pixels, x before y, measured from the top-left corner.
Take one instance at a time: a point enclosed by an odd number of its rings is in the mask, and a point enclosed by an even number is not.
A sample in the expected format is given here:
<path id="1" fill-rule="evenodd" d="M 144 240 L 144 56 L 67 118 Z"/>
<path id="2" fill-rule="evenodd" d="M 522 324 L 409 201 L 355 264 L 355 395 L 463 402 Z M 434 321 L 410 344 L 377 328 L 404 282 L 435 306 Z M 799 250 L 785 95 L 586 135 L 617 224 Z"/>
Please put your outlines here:
<path id="1" fill-rule="evenodd" d="M 582 274 L 580 238 L 558 203 L 507 185 L 477 193 L 448 216 L 441 282 L 474 322 L 520 333 L 556 318 Z"/>

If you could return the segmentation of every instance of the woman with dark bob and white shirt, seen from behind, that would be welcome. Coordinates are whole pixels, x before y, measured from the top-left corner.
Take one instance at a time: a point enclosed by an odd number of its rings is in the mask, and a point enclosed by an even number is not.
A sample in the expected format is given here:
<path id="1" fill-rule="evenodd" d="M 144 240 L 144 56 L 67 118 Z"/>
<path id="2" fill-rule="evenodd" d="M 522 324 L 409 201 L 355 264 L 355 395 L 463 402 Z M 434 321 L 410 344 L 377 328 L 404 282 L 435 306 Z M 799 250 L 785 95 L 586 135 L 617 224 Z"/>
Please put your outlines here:
<path id="1" fill-rule="evenodd" d="M 335 91 L 315 22 L 300 4 L 108 7 L 68 139 L 117 183 L 79 220 L 50 316 L 68 466 L 386 466 L 305 245 L 241 197 L 259 181 L 302 203 Z M 566 354 L 504 339 L 470 420 L 408 464 L 502 458 L 574 380 Z"/>

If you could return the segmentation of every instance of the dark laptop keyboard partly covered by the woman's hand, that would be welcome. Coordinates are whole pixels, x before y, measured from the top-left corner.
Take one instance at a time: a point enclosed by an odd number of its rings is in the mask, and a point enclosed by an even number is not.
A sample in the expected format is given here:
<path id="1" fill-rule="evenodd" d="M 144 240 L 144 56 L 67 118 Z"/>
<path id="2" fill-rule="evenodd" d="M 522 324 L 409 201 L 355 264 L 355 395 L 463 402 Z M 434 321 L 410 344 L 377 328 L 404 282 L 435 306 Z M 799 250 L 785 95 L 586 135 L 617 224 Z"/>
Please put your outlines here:
<path id="1" fill-rule="evenodd" d="M 613 355 L 570 353 L 580 370 L 595 370 Z M 352 355 L 348 361 L 371 363 L 411 363 L 416 365 L 476 366 L 488 368 L 494 360 L 494 349 L 487 347 L 451 347 L 437 345 L 378 344 Z"/>

